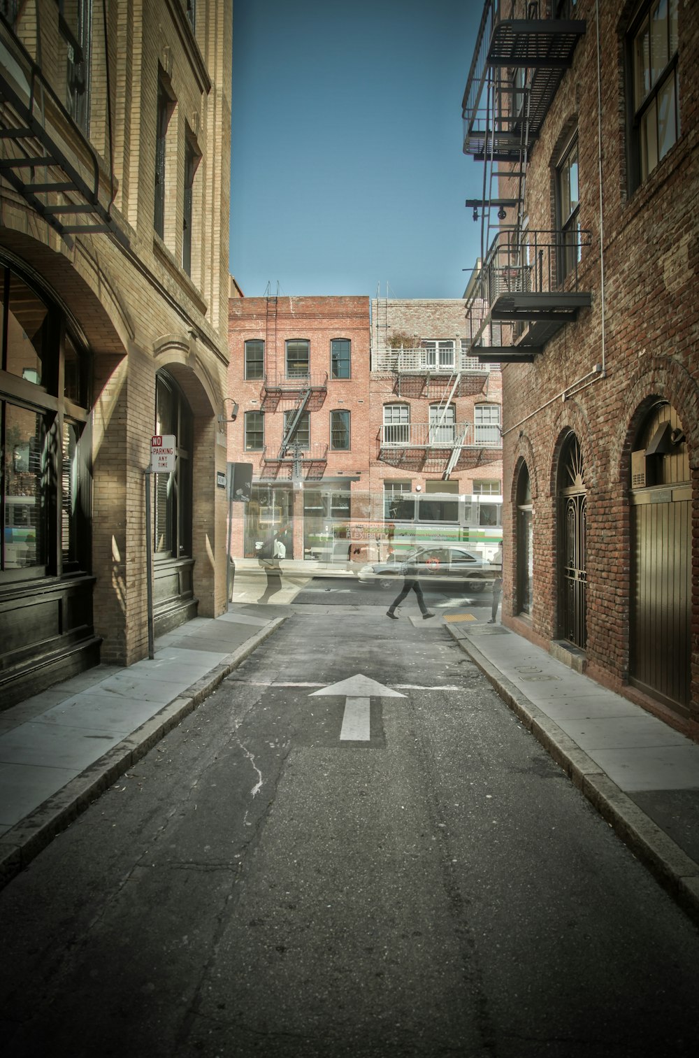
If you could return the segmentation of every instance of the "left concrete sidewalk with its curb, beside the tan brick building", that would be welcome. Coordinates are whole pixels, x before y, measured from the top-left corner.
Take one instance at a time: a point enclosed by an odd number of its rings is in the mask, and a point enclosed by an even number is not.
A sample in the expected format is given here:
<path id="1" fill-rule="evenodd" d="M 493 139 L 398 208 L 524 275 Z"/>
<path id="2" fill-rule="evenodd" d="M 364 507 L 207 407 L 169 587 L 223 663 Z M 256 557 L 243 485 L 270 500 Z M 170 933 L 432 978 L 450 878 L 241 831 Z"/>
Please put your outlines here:
<path id="1" fill-rule="evenodd" d="M 216 690 L 282 623 L 233 605 L 155 640 L 153 660 L 98 665 L 0 713 L 0 887 Z"/>

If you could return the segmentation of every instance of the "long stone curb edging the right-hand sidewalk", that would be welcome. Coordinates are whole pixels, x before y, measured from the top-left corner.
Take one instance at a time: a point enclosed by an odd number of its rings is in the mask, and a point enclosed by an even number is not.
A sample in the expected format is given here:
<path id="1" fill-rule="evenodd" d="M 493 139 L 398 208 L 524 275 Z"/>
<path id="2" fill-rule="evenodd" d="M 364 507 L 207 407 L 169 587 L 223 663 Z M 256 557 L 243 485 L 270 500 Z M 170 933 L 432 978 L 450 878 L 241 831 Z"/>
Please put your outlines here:
<path id="1" fill-rule="evenodd" d="M 665 891 L 699 926 L 699 864 L 612 782 L 566 732 L 533 705 L 477 646 L 447 625 L 449 635 L 483 673 L 507 706 L 609 823 Z"/>

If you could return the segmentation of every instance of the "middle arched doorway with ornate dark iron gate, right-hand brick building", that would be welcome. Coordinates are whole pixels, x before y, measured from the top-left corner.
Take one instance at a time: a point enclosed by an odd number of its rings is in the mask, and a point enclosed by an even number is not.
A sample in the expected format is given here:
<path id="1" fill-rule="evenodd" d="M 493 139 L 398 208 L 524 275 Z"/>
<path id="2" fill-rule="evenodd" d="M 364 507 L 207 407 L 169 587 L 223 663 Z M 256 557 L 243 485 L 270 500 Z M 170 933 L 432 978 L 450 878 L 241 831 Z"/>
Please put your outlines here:
<path id="1" fill-rule="evenodd" d="M 587 489 L 583 454 L 570 434 L 558 468 L 559 635 L 574 646 L 587 646 Z"/>

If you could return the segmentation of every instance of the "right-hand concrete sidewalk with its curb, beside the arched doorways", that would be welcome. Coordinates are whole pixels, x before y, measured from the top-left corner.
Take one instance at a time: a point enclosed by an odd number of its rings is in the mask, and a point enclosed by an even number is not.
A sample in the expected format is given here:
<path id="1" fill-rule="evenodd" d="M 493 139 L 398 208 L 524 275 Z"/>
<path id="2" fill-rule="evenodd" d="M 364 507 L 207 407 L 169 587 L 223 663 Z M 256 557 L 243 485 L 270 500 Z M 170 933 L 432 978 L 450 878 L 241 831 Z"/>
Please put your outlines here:
<path id="1" fill-rule="evenodd" d="M 462 650 L 699 924 L 699 745 L 499 624 L 446 618 Z"/>

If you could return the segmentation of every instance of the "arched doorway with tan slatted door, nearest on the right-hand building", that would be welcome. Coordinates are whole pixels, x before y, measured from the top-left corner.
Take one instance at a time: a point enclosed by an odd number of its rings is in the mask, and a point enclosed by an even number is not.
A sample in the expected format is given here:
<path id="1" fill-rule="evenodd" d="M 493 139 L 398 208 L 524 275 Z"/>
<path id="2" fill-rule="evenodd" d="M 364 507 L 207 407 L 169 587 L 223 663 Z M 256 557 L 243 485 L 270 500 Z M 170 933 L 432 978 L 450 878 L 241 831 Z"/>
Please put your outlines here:
<path id="1" fill-rule="evenodd" d="M 692 487 L 682 423 L 658 402 L 633 444 L 629 682 L 684 714 L 689 701 Z"/>

